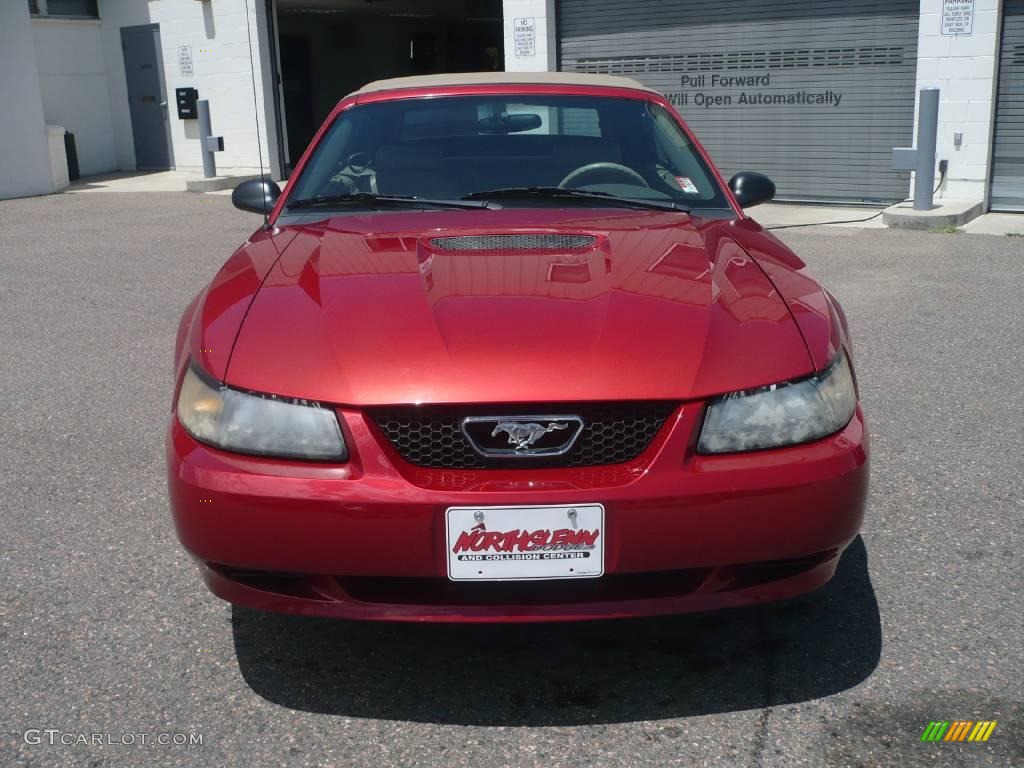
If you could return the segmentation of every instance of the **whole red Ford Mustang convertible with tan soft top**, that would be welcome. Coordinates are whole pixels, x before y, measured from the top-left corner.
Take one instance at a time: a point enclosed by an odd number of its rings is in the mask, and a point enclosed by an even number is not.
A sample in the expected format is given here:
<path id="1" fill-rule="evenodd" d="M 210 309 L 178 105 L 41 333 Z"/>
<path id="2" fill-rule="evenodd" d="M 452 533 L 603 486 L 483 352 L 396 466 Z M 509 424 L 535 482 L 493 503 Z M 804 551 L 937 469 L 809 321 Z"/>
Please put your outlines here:
<path id="1" fill-rule="evenodd" d="M 343 99 L 181 318 L 171 510 L 210 589 L 302 614 L 605 618 L 820 587 L 867 434 L 846 319 L 631 80 Z"/>

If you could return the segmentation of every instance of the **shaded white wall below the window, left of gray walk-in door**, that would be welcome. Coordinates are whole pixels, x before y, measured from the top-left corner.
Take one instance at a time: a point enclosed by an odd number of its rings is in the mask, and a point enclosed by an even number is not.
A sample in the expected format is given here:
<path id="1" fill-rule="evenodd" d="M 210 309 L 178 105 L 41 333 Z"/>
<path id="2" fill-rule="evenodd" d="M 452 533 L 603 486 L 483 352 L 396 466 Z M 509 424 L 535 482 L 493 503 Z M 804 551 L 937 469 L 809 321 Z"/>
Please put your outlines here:
<path id="1" fill-rule="evenodd" d="M 46 122 L 75 134 L 82 174 L 117 170 L 99 22 L 36 18 L 32 37 Z"/>

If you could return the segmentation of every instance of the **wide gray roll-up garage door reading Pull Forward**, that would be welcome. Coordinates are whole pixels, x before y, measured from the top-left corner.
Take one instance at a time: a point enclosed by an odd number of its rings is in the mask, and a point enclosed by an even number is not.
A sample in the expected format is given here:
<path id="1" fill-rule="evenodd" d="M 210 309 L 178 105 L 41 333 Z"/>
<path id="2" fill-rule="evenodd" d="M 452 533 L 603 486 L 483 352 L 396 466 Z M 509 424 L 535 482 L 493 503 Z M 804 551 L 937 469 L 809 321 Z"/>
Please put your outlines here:
<path id="1" fill-rule="evenodd" d="M 726 176 L 784 200 L 895 201 L 913 144 L 918 3 L 561 0 L 561 69 L 656 88 Z"/>

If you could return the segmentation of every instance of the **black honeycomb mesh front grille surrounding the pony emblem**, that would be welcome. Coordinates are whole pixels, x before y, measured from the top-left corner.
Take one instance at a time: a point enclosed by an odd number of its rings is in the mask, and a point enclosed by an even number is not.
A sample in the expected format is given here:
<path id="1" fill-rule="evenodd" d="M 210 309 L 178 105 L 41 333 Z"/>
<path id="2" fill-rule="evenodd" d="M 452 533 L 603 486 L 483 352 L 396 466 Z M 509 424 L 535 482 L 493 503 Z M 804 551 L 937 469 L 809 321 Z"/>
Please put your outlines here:
<path id="1" fill-rule="evenodd" d="M 592 467 L 632 461 L 662 428 L 672 402 L 527 406 L 409 406 L 372 409 L 370 417 L 410 464 L 445 469 Z M 557 457 L 489 458 L 473 451 L 460 425 L 467 416 L 574 414 L 584 427 L 571 450 Z"/>

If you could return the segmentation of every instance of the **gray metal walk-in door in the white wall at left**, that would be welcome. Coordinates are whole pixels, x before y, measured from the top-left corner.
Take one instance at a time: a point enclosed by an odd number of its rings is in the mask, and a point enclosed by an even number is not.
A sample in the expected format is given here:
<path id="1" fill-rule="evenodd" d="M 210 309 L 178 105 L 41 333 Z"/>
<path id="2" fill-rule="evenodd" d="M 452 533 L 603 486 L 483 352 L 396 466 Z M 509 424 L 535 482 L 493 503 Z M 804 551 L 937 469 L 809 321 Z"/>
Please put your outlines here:
<path id="1" fill-rule="evenodd" d="M 145 170 L 170 168 L 167 95 L 160 67 L 160 25 L 122 27 L 121 49 L 135 139 L 135 167 Z"/>

